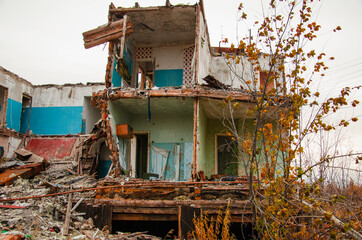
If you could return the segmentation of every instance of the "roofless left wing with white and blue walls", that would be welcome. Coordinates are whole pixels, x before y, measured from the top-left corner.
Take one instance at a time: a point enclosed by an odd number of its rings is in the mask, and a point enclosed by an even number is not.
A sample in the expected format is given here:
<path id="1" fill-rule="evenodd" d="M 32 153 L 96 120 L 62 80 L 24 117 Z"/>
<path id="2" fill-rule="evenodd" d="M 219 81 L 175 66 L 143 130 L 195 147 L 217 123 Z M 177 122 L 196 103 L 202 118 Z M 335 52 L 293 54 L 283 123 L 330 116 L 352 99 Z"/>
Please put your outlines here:
<path id="1" fill-rule="evenodd" d="M 91 105 L 104 83 L 33 85 L 0 67 L 0 146 L 11 158 L 24 136 L 78 136 L 92 131 L 100 111 Z M 28 139 L 27 139 L 28 140 Z"/>

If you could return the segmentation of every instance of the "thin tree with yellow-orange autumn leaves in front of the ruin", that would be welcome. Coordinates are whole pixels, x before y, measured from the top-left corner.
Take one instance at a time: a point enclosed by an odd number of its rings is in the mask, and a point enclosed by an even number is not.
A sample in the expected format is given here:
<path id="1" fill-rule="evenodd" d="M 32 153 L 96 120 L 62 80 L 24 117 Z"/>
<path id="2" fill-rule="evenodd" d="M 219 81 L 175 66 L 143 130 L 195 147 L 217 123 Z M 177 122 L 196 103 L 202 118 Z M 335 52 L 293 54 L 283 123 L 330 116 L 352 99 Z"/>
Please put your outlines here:
<path id="1" fill-rule="evenodd" d="M 325 156 L 309 166 L 295 164 L 304 152 L 306 136 L 334 131 L 358 120 L 354 117 L 328 124 L 325 118 L 345 106 L 356 107 L 359 102 L 347 98 L 359 87 L 345 87 L 339 96 L 325 101 L 311 87 L 315 76 L 324 76 L 326 61 L 333 60 L 323 52 L 306 50 L 306 44 L 315 41 L 321 29 L 312 21 L 312 2 L 270 0 L 264 19 L 255 22 L 256 36 L 231 45 L 239 48 L 239 54 L 224 56 L 234 74 L 237 65 L 249 64 L 254 76 L 253 80 L 239 76 L 253 96 L 253 107 L 247 113 L 254 119 L 252 131 L 240 134 L 233 121 L 228 128 L 238 142 L 239 160 L 248 175 L 258 239 L 362 239 L 358 233 L 362 229 L 360 214 L 354 216 L 356 212 L 346 208 L 340 214 L 345 217 L 342 221 L 332 212 L 335 204 L 346 205 L 343 196 L 326 199 L 321 189 L 323 179 L 307 182 L 303 178 L 331 158 Z M 238 10 L 241 18 L 247 19 L 242 4 Z M 339 26 L 333 29 L 339 30 Z M 261 58 L 267 59 L 267 70 Z M 263 82 L 256 77 L 261 72 Z M 231 113 L 238 111 L 231 96 L 225 103 Z M 308 122 L 300 120 L 304 108 L 317 109 Z"/>

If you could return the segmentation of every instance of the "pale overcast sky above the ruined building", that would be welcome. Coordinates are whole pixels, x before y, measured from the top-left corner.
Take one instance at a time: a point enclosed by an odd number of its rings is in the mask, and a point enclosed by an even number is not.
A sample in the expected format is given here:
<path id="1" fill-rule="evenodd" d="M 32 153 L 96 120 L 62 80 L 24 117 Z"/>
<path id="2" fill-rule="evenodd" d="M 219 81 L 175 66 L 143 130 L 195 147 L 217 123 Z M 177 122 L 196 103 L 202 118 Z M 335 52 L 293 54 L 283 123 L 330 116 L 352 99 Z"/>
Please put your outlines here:
<path id="1" fill-rule="evenodd" d="M 82 32 L 107 22 L 108 0 L 0 0 L 0 66 L 33 84 L 103 82 L 107 48 L 83 47 Z M 113 1 L 115 6 L 132 7 L 134 1 Z M 138 0 L 142 6 L 164 5 L 165 0 Z M 171 4 L 194 4 L 175 1 Z M 251 19 L 260 19 L 260 0 L 243 1 Z M 235 42 L 237 0 L 204 0 L 211 44 L 221 37 Z M 362 84 L 362 1 L 322 0 L 315 5 L 317 21 L 322 25 L 321 38 L 314 43 L 336 60 L 320 83 L 320 91 L 329 96 L 342 86 Z M 340 25 L 342 31 L 332 34 Z M 252 25 L 243 23 L 238 35 L 244 37 Z M 252 29 L 252 34 L 255 30 Z M 361 91 L 356 97 L 362 102 Z M 361 107 L 348 114 L 362 113 Z M 352 126 L 351 145 L 362 149 L 360 123 Z M 349 138 L 349 137 L 348 137 Z"/>

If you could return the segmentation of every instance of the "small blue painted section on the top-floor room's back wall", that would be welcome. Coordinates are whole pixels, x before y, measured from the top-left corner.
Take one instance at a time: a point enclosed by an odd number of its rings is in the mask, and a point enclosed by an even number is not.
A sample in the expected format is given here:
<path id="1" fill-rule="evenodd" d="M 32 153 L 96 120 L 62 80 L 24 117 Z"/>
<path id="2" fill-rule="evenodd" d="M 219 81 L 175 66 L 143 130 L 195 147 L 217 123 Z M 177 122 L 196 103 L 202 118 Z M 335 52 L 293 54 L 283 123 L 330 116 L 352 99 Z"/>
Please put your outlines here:
<path id="1" fill-rule="evenodd" d="M 182 86 L 182 69 L 167 69 L 155 71 L 155 86 L 180 87 Z"/>

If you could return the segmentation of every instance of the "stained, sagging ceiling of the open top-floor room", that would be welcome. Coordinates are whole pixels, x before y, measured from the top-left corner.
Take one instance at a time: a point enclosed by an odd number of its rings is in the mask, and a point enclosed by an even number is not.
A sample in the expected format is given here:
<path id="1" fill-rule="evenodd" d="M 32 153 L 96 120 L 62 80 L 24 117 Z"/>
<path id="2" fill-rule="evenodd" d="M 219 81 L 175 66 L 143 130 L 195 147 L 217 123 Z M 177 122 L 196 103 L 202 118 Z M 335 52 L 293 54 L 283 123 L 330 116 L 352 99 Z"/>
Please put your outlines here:
<path id="1" fill-rule="evenodd" d="M 195 42 L 196 6 L 159 7 L 123 12 L 130 17 L 137 46 L 192 44 Z"/>

